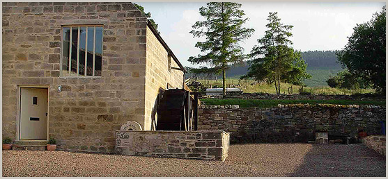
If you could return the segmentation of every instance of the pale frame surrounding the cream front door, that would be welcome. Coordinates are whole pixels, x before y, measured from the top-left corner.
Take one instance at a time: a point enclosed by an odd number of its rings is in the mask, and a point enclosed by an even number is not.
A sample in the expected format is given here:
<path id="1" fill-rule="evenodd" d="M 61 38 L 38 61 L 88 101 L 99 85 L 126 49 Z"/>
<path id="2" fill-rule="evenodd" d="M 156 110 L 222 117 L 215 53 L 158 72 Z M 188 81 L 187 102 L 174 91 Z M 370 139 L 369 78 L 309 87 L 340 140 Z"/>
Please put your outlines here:
<path id="1" fill-rule="evenodd" d="M 22 140 L 20 139 L 20 105 L 21 104 L 21 96 L 22 96 L 22 88 L 47 88 L 47 137 L 43 140 Z M 17 85 L 17 112 L 16 112 L 16 141 L 29 141 L 29 142 L 43 142 L 48 141 L 49 139 L 49 96 L 50 96 L 50 86 L 49 85 Z"/>

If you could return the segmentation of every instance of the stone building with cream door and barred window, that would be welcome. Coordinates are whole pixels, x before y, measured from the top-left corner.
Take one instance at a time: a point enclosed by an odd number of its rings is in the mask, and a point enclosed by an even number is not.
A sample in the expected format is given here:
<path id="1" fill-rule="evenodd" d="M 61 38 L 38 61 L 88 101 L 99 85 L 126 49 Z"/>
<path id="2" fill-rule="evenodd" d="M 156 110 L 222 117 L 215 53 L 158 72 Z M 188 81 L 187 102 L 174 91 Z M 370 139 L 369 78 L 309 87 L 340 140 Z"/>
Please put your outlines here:
<path id="1" fill-rule="evenodd" d="M 66 151 L 114 152 L 126 121 L 153 130 L 159 90 L 185 75 L 132 3 L 3 3 L 2 52 L 3 137 Z"/>

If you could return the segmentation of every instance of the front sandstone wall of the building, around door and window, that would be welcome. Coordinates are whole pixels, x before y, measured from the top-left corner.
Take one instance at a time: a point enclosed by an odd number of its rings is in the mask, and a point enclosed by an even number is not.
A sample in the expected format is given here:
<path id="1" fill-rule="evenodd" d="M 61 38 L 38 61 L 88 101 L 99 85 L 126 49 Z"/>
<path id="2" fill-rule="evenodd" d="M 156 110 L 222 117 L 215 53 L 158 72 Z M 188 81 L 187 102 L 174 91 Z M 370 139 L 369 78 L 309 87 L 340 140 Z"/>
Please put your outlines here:
<path id="1" fill-rule="evenodd" d="M 114 152 L 121 124 L 144 125 L 146 17 L 132 3 L 8 2 L 2 18 L 3 137 L 17 136 L 18 85 L 49 86 L 49 135 L 60 150 Z M 59 76 L 68 24 L 103 25 L 102 76 Z"/>

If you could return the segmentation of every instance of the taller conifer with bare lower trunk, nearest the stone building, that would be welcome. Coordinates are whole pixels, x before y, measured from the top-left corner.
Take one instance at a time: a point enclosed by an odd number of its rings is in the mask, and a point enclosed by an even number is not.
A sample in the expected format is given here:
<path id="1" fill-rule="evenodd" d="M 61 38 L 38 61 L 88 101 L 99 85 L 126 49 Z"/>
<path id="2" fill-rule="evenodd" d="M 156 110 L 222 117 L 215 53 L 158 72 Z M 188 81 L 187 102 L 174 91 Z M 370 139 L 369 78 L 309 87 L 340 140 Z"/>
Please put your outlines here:
<path id="1" fill-rule="evenodd" d="M 208 73 L 222 72 L 223 94 L 226 94 L 226 69 L 228 65 L 242 62 L 246 58 L 244 49 L 239 45 L 254 32 L 252 28 L 242 27 L 248 18 L 243 18 L 244 11 L 239 3 L 212 2 L 207 7 L 199 9 L 200 15 L 206 18 L 203 22 L 196 22 L 190 31 L 194 37 L 206 37 L 205 42 L 197 42 L 196 47 L 205 55 L 190 57 L 192 64 L 210 64 L 205 69 Z"/>

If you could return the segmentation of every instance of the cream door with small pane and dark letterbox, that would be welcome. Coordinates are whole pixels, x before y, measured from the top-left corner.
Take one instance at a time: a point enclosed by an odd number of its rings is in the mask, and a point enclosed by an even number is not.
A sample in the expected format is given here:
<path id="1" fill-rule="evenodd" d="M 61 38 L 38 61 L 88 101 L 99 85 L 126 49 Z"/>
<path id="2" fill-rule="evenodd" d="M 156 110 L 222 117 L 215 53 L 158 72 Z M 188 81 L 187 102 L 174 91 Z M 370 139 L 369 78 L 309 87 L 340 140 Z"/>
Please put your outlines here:
<path id="1" fill-rule="evenodd" d="M 47 139 L 47 88 L 20 88 L 20 139 Z"/>

